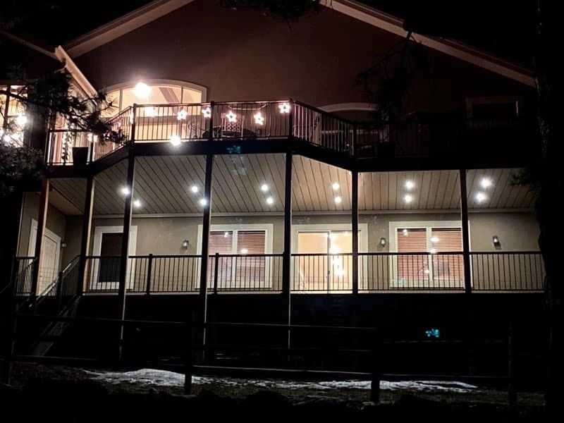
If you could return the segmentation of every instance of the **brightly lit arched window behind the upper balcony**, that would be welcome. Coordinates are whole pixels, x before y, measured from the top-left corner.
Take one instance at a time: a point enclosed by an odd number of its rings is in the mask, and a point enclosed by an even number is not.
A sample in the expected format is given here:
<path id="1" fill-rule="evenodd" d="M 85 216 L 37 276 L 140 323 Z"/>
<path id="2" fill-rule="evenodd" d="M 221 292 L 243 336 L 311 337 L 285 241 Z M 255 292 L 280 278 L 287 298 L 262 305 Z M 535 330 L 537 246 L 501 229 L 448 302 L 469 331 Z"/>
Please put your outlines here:
<path id="1" fill-rule="evenodd" d="M 143 80 L 135 83 L 112 85 L 106 88 L 106 98 L 114 106 L 104 113 L 115 116 L 134 103 L 178 104 L 201 103 L 207 99 L 207 89 L 192 82 L 176 80 Z"/>

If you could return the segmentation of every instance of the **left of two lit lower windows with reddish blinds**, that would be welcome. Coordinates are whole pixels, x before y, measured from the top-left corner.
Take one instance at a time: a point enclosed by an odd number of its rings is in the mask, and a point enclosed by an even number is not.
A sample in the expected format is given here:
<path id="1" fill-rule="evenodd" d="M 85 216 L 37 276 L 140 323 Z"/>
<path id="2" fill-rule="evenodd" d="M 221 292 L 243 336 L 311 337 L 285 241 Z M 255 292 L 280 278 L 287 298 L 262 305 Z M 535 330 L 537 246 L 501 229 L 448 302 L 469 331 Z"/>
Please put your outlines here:
<path id="1" fill-rule="evenodd" d="M 209 255 L 220 255 L 217 264 L 218 288 L 251 286 L 266 275 L 266 231 L 212 231 Z M 230 257 L 224 257 L 229 255 Z M 221 257 L 223 256 L 223 257 Z M 209 260 L 210 286 L 214 283 L 215 257 Z"/>

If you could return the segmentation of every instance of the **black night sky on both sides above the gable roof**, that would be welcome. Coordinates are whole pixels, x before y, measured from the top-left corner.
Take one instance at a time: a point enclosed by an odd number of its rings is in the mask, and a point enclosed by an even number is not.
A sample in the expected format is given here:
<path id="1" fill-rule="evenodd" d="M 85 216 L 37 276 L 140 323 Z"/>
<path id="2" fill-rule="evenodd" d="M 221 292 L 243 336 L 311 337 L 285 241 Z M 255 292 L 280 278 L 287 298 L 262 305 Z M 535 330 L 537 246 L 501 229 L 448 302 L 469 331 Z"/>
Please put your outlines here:
<path id="1" fill-rule="evenodd" d="M 10 0 L 6 0 L 10 1 Z M 211 1 L 211 0 L 208 0 Z M 400 18 L 429 20 L 441 34 L 530 66 L 535 30 L 535 0 L 364 0 Z M 27 4 L 26 1 L 22 1 Z M 148 0 L 37 1 L 51 4 L 30 13 L 20 29 L 50 44 L 64 42 L 132 11 Z M 78 5 L 80 4 L 80 11 Z M 38 12 L 38 9 L 40 12 Z"/>

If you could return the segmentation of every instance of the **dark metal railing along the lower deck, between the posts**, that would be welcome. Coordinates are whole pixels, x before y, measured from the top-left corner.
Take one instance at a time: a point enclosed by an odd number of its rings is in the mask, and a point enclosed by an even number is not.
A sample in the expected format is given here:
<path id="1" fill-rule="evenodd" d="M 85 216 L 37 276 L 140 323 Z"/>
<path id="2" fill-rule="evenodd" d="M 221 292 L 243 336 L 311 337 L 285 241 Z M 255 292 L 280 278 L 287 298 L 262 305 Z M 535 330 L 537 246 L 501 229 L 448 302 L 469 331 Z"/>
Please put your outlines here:
<path id="1" fill-rule="evenodd" d="M 87 257 L 85 291 L 116 292 L 120 257 Z M 197 293 L 199 255 L 147 255 L 128 259 L 126 288 L 130 293 Z M 211 255 L 210 292 L 281 292 L 283 255 Z M 474 292 L 541 291 L 544 264 L 539 252 L 472 252 L 470 285 Z M 358 255 L 358 289 L 372 292 L 464 292 L 462 252 L 362 252 Z M 350 293 L 353 254 L 293 254 L 293 293 Z"/>

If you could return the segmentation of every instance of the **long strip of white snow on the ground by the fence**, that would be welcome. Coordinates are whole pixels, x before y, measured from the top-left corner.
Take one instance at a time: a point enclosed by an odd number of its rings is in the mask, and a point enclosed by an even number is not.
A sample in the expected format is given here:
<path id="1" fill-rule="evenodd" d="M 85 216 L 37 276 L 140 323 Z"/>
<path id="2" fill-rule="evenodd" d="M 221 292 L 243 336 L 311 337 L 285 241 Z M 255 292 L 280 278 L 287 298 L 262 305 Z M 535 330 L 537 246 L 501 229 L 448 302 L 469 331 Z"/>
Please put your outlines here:
<path id="1" fill-rule="evenodd" d="M 184 375 L 158 369 L 140 369 L 135 372 L 87 372 L 94 379 L 110 384 L 140 384 L 141 386 L 183 386 Z M 326 391 L 330 389 L 370 389 L 370 381 L 283 381 L 276 379 L 235 379 L 207 376 L 192 376 L 192 384 L 219 386 L 254 386 L 264 389 L 312 389 Z M 477 386 L 458 381 L 381 381 L 380 388 L 386 391 L 398 389 L 410 391 L 448 391 L 465 393 Z"/>

